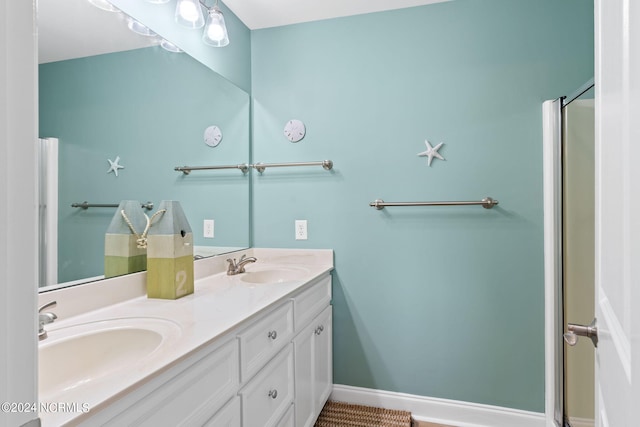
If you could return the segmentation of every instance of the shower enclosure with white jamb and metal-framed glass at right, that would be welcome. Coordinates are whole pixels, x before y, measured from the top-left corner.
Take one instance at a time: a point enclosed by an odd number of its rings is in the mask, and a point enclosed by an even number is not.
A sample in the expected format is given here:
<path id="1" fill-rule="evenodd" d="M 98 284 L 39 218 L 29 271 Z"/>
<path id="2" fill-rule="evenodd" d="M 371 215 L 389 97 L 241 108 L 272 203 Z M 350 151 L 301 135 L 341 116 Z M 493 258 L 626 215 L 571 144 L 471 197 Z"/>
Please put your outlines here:
<path id="1" fill-rule="evenodd" d="M 594 425 L 594 346 L 567 333 L 595 313 L 593 98 L 589 81 L 543 104 L 547 413 L 560 427 Z"/>

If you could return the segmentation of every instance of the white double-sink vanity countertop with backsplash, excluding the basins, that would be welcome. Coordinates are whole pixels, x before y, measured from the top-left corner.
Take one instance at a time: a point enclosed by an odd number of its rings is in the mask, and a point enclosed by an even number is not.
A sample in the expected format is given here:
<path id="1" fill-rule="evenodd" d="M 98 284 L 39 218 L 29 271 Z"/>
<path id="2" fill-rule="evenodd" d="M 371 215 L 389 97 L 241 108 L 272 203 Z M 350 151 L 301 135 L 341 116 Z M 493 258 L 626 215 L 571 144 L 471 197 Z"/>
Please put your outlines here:
<path id="1" fill-rule="evenodd" d="M 242 254 L 255 256 L 258 259 L 257 262 L 246 266 L 248 273 L 260 270 L 298 268 L 304 271 L 304 277 L 280 283 L 256 284 L 242 280 L 241 275 L 227 276 L 224 259 L 230 256 L 239 258 Z M 64 334 L 65 329 L 87 324 L 98 326 L 114 319 L 118 319 L 118 322 L 123 322 L 120 319 L 162 319 L 165 323 L 170 322 L 177 333 L 173 334 L 170 345 L 164 346 L 153 357 L 146 358 L 144 365 L 120 370 L 117 375 L 104 375 L 96 379 L 94 383 L 75 385 L 47 395 L 41 394 L 41 404 L 43 402 L 47 404 L 76 403 L 80 407 L 84 405 L 84 407 L 90 408 L 87 414 L 81 411 L 76 413 L 41 412 L 42 425 L 74 425 L 86 419 L 91 415 L 91 412 L 97 411 L 134 391 L 198 349 L 225 337 L 228 332 L 247 320 L 287 299 L 315 279 L 329 274 L 331 270 L 333 270 L 333 252 L 331 250 L 248 249 L 221 257 L 198 260 L 196 262 L 195 292 L 178 300 L 148 299 L 146 295 L 138 295 L 86 312 L 82 312 L 82 309 L 78 308 L 71 310 L 67 308 L 67 312 L 71 315 L 59 315 L 58 321 L 46 325 L 45 329 L 49 333 L 49 338 L 40 342 L 41 351 L 43 346 L 54 345 L 56 341 L 59 341 L 60 338 L 56 338 L 56 334 Z M 146 280 L 144 273 L 139 275 L 142 277 L 141 280 Z M 131 278 L 123 278 L 122 280 L 131 280 Z M 113 283 L 118 285 L 117 281 Z M 101 283 L 101 285 L 102 289 L 96 290 L 96 292 L 108 290 L 104 288 L 104 284 Z M 144 289 L 140 283 L 131 286 L 137 286 L 134 293 L 139 292 L 140 288 Z M 62 308 L 67 302 L 79 303 L 81 298 L 78 295 L 72 295 L 73 292 L 86 293 L 88 291 L 90 289 L 73 290 L 70 288 L 66 291 L 69 298 L 65 299 L 65 290 L 61 289 L 55 293 L 40 294 L 39 299 L 41 303 L 55 299 L 57 306 Z M 128 292 L 128 296 L 131 296 L 132 291 Z M 55 308 L 51 311 L 57 312 Z"/>

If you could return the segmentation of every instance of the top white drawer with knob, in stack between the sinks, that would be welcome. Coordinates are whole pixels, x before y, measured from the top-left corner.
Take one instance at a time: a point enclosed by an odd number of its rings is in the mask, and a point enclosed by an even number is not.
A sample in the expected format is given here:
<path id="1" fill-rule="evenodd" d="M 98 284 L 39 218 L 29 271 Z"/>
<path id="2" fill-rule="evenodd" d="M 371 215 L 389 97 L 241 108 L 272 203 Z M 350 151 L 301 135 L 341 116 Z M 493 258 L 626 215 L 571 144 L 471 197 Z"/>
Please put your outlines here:
<path id="1" fill-rule="evenodd" d="M 240 377 L 249 380 L 293 337 L 293 307 L 287 302 L 238 335 Z"/>

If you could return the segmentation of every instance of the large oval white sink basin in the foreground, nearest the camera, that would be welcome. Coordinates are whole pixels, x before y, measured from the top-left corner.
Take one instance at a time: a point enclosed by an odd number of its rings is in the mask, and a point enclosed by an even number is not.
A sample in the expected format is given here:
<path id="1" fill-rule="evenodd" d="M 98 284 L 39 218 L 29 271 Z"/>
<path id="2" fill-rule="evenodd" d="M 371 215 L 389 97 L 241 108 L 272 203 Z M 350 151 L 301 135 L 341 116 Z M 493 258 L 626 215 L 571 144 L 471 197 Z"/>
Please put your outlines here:
<path id="1" fill-rule="evenodd" d="M 38 389 L 47 397 L 146 366 L 180 336 L 180 327 L 156 318 L 121 318 L 48 332 L 39 344 Z"/>

